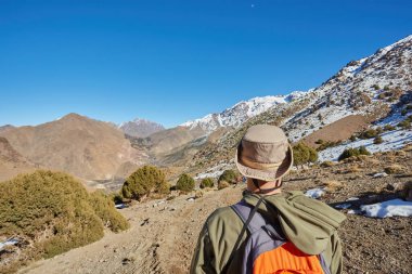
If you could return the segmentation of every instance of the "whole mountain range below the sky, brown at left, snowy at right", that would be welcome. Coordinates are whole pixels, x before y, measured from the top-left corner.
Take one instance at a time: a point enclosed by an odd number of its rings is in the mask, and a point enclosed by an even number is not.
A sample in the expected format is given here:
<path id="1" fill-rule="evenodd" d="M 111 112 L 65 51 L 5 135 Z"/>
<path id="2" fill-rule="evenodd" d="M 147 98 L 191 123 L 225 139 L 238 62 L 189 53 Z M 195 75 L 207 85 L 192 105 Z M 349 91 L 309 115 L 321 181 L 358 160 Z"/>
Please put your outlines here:
<path id="1" fill-rule="evenodd" d="M 107 179 L 119 170 L 127 175 L 143 164 L 193 170 L 233 158 L 252 125 L 278 125 L 292 142 L 311 145 L 318 139 L 346 140 L 388 115 L 401 118 L 411 97 L 409 36 L 349 62 L 316 89 L 254 97 L 171 129 L 144 119 L 114 126 L 77 114 L 36 127 L 0 127 L 0 156 L 8 149 L 29 167 L 65 170 L 86 180 Z M 10 168 L 0 165 L 0 172 Z"/>

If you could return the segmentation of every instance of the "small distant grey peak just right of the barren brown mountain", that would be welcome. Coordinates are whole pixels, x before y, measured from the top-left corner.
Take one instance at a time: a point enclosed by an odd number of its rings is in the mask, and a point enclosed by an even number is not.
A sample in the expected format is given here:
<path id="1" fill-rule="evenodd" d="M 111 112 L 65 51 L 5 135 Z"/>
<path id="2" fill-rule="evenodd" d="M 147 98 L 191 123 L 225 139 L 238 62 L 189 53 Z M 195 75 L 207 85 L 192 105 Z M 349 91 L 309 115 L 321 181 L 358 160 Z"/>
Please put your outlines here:
<path id="1" fill-rule="evenodd" d="M 153 133 L 165 130 L 165 127 L 157 122 L 139 118 L 123 122 L 118 128 L 125 132 L 125 134 L 134 138 L 146 138 Z"/>

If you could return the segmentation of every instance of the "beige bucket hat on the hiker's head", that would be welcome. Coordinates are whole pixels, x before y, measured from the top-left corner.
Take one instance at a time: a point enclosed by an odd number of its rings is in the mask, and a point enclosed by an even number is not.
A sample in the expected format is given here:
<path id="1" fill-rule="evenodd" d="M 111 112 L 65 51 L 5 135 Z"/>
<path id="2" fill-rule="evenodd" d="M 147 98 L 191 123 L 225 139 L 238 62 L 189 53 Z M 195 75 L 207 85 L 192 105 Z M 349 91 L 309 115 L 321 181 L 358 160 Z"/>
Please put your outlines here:
<path id="1" fill-rule="evenodd" d="M 235 162 L 243 175 L 272 182 L 291 170 L 293 152 L 282 129 L 257 125 L 247 129 L 237 146 Z"/>

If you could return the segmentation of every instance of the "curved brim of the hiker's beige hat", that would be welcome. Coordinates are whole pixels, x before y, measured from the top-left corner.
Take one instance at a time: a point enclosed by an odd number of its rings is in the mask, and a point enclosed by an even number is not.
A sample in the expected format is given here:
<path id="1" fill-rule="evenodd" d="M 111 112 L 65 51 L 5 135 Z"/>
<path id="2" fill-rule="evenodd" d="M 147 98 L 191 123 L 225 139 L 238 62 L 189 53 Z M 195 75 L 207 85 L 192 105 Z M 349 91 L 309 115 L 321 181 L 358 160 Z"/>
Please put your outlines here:
<path id="1" fill-rule="evenodd" d="M 291 145 L 288 145 L 286 157 L 282 161 L 282 164 L 278 168 L 267 169 L 267 170 L 254 169 L 254 168 L 249 168 L 243 165 L 239 158 L 239 154 L 241 149 L 242 147 L 240 144 L 236 149 L 234 161 L 236 164 L 239 171 L 244 177 L 255 178 L 255 179 L 267 181 L 267 182 L 273 182 L 286 175 L 293 167 L 293 151 L 292 151 Z"/>

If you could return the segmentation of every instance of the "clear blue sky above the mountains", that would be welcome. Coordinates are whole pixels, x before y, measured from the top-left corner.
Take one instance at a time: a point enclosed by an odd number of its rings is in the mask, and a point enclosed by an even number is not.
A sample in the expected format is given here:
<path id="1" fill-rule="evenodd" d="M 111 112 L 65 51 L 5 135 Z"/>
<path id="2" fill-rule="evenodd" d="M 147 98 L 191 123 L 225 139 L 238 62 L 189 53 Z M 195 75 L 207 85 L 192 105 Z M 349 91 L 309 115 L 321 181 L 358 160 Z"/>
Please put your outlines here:
<path id="1" fill-rule="evenodd" d="M 412 1 L 0 0 L 0 125 L 172 127 L 317 87 L 412 34 Z"/>

